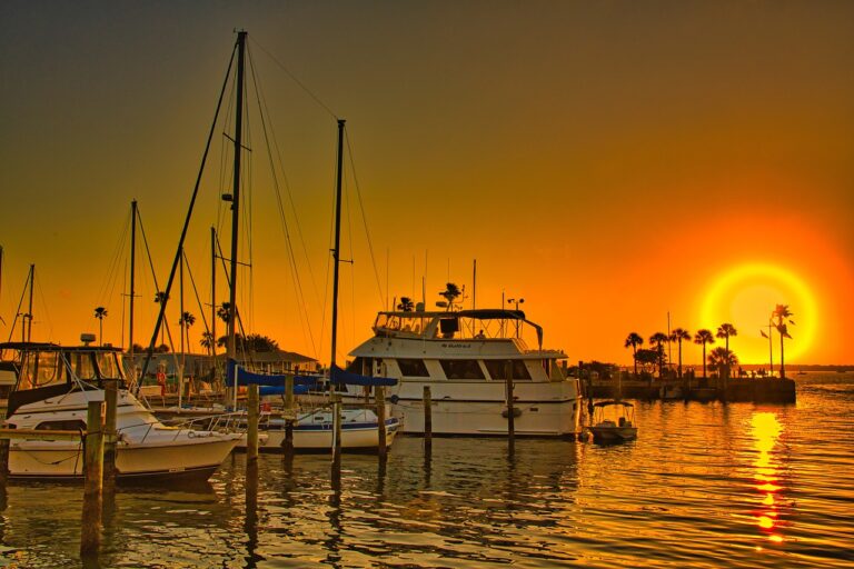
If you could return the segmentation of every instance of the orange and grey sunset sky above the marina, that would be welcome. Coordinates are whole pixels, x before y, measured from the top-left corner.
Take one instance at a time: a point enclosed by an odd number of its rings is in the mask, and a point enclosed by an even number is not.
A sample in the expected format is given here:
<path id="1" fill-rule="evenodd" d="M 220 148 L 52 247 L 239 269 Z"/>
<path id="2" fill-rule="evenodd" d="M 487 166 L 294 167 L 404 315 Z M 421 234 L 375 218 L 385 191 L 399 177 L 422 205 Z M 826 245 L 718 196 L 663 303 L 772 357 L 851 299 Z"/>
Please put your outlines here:
<path id="1" fill-rule="evenodd" d="M 36 339 L 97 331 L 106 306 L 105 337 L 121 342 L 125 261 L 110 264 L 130 201 L 163 281 L 237 27 L 307 249 L 289 212 L 314 345 L 252 108 L 255 268 L 241 305 L 282 348 L 328 361 L 336 127 L 265 51 L 348 120 L 379 282 L 349 174 L 342 351 L 370 333 L 387 269 L 389 299 L 419 298 L 426 276 L 433 303 L 447 280 L 470 291 L 477 259 L 478 307 L 524 297 L 570 360 L 627 365 L 627 333 L 666 331 L 669 312 L 692 332 L 732 321 L 731 347 L 762 363 L 763 315 L 784 301 L 797 322 L 787 361 L 854 363 L 852 21 L 848 2 L 4 2 L 0 337 L 36 263 Z M 222 149 L 218 137 L 187 246 L 203 302 Z M 772 269 L 721 292 L 707 322 L 715 283 L 746 266 Z M 146 342 L 155 288 L 139 271 Z M 170 313 L 177 339 L 177 302 Z"/>

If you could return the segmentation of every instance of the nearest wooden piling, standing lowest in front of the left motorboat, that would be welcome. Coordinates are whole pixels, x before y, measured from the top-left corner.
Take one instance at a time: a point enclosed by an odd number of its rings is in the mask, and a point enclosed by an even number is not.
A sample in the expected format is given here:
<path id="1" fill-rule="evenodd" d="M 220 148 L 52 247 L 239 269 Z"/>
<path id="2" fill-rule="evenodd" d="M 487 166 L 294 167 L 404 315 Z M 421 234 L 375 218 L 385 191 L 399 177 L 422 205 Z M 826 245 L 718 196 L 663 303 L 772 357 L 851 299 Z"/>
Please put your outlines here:
<path id="1" fill-rule="evenodd" d="M 89 401 L 83 449 L 83 520 L 80 531 L 80 555 L 89 556 L 98 551 L 101 542 L 103 401 Z"/>

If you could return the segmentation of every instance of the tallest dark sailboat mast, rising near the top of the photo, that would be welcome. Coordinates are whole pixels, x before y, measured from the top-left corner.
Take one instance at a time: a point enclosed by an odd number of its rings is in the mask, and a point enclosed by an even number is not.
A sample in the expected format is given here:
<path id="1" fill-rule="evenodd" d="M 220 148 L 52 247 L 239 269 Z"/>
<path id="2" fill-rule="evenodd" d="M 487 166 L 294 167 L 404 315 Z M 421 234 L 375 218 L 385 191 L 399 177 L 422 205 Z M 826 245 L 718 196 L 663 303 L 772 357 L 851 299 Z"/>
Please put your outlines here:
<path id="1" fill-rule="evenodd" d="M 244 57 L 246 53 L 246 32 L 237 32 L 237 104 L 235 107 L 235 182 L 231 193 L 231 287 L 228 297 L 228 357 L 237 357 L 235 326 L 237 325 L 237 241 L 240 236 L 240 154 L 242 152 L 244 130 Z M 237 381 L 237 379 L 235 379 Z M 235 387 L 237 402 L 237 387 Z"/>

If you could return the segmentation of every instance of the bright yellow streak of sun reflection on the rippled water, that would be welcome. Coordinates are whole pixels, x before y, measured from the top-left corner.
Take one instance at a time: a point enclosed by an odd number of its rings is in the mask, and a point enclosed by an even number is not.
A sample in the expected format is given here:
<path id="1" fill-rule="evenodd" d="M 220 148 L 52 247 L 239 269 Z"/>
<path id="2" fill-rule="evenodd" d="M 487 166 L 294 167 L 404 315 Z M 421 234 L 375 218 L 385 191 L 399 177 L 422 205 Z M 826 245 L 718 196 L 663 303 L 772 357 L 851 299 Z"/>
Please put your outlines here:
<path id="1" fill-rule="evenodd" d="M 779 483 L 778 468 L 773 452 L 777 445 L 783 427 L 777 420 L 776 413 L 756 412 L 751 418 L 751 433 L 754 438 L 756 460 L 753 463 L 756 480 L 756 490 L 762 492 L 761 508 L 756 511 L 756 525 L 772 542 L 779 543 L 783 536 L 775 530 L 778 527 L 777 492 L 783 490 Z"/>

